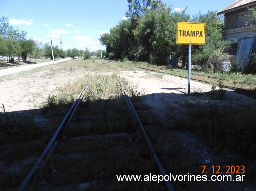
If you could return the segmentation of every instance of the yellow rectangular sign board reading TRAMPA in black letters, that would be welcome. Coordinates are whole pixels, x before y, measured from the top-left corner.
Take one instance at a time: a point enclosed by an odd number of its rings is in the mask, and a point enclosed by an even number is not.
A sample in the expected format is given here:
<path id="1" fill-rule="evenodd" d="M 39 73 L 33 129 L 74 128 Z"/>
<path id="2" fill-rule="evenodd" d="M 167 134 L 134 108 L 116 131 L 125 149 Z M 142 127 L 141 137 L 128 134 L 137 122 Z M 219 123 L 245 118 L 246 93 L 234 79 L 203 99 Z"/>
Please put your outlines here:
<path id="1" fill-rule="evenodd" d="M 177 22 L 176 44 L 204 45 L 205 23 Z"/>

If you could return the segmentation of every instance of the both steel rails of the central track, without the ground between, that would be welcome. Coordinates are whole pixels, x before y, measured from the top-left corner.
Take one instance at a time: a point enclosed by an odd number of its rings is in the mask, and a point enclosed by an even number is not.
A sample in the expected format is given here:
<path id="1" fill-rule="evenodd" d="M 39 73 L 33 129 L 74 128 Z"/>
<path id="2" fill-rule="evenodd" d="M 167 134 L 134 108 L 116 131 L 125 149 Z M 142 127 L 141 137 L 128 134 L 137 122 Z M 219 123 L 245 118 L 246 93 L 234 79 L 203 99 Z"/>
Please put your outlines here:
<path id="1" fill-rule="evenodd" d="M 109 62 L 110 64 L 110 62 Z M 110 64 L 111 65 L 111 64 Z M 99 65 L 100 67 L 100 65 Z M 98 69 L 99 69 L 98 67 Z M 112 67 L 112 66 L 111 66 Z M 94 73 L 94 76 L 95 74 L 97 73 L 98 69 L 95 71 Z M 113 67 L 112 67 L 113 69 Z M 113 72 L 114 72 L 114 69 L 113 69 Z M 93 76 L 93 78 L 94 78 Z M 53 150 L 55 149 L 56 145 L 58 145 L 58 142 L 60 142 L 61 140 L 66 140 L 67 137 L 68 137 L 68 132 L 69 132 L 69 125 L 71 123 L 71 121 L 73 121 L 76 116 L 77 116 L 77 113 L 78 113 L 78 110 L 81 106 L 81 103 L 82 103 L 82 100 L 84 98 L 84 95 L 86 94 L 86 91 L 87 89 L 89 88 L 93 78 L 90 80 L 90 82 L 88 83 L 87 87 L 86 88 L 83 88 L 80 92 L 80 94 L 78 95 L 76 101 L 73 103 L 72 107 L 70 108 L 70 110 L 68 111 L 68 113 L 66 114 L 66 116 L 64 117 L 64 119 L 62 120 L 62 122 L 60 123 L 58 129 L 56 130 L 56 132 L 54 133 L 52 139 L 50 140 L 50 142 L 48 143 L 48 145 L 46 146 L 45 150 L 43 151 L 42 155 L 40 156 L 40 158 L 38 159 L 38 161 L 35 163 L 35 165 L 32 167 L 31 171 L 28 173 L 26 179 L 22 182 L 21 186 L 19 187 L 19 191 L 22 191 L 23 189 L 26 188 L 26 185 L 31 181 L 32 177 L 34 176 L 36 170 L 38 169 L 38 167 L 42 164 L 42 162 L 47 158 L 47 156 L 49 156 Z M 165 176 L 166 175 L 166 172 L 162 166 L 162 163 L 153 147 L 153 144 L 150 142 L 149 140 L 149 137 L 145 131 L 145 128 L 128 96 L 128 93 L 126 92 L 126 90 L 124 90 L 124 88 L 122 87 L 122 84 L 121 84 L 121 81 L 120 79 L 117 77 L 117 81 L 118 81 L 118 85 L 120 87 L 120 90 L 122 92 L 122 95 L 123 95 L 123 98 L 125 99 L 126 101 L 126 104 L 128 105 L 130 111 L 131 111 L 131 114 L 136 118 L 137 120 L 137 123 L 139 125 L 139 129 L 137 129 L 137 132 L 140 132 L 143 137 L 145 138 L 145 142 L 151 152 L 151 155 L 152 157 L 154 158 L 156 164 L 157 164 L 157 167 L 161 173 L 162 176 Z M 88 117 L 88 116 L 87 116 Z M 93 116 L 92 116 L 93 118 Z M 101 134 L 101 133 L 100 133 Z M 104 134 L 104 133 L 103 133 Z M 102 135 L 99 135 L 99 136 L 102 136 Z M 111 136 L 111 135 L 108 135 L 108 136 Z M 113 135 L 115 136 L 115 135 Z M 119 133 L 118 136 L 124 136 L 124 133 Z M 79 137 L 78 137 L 79 138 Z M 74 140 L 77 139 L 77 138 L 73 138 Z M 174 191 L 174 188 L 171 184 L 170 181 L 165 181 L 165 184 L 166 184 L 166 187 L 169 191 Z"/>

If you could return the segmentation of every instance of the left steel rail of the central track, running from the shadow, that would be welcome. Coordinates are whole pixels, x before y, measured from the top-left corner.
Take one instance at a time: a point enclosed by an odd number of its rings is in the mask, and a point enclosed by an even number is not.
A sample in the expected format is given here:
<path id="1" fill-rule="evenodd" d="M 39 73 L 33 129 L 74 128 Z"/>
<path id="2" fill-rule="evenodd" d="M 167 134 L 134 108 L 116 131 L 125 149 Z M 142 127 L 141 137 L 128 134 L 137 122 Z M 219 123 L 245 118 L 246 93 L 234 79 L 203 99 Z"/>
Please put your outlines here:
<path id="1" fill-rule="evenodd" d="M 49 153 L 50 150 L 53 150 L 53 148 L 55 147 L 55 143 L 56 140 L 60 137 L 60 133 L 61 131 L 63 131 L 63 126 L 65 125 L 65 129 L 68 127 L 69 122 L 72 120 L 74 114 L 76 113 L 76 110 L 78 108 L 78 105 L 80 104 L 80 102 L 82 101 L 83 98 L 81 98 L 81 96 L 84 96 L 84 93 L 86 92 L 86 90 L 88 89 L 88 87 L 90 86 L 90 83 L 92 82 L 95 74 L 97 73 L 99 67 L 101 65 L 101 62 L 97 68 L 97 70 L 95 71 L 92 79 L 90 80 L 90 82 L 88 83 L 86 88 L 83 88 L 82 91 L 80 92 L 80 94 L 78 95 L 77 99 L 75 100 L 75 102 L 73 103 L 73 105 L 71 106 L 71 108 L 69 109 L 68 113 L 66 114 L 66 116 L 63 118 L 62 122 L 60 123 L 58 129 L 55 131 L 54 135 L 52 136 L 50 142 L 47 144 L 47 146 L 45 147 L 43 153 L 41 154 L 41 156 L 39 157 L 38 161 L 35 163 L 35 165 L 33 166 L 33 168 L 30 170 L 30 172 L 28 173 L 28 175 L 26 176 L 25 180 L 22 182 L 21 186 L 19 187 L 18 191 L 22 191 L 26 185 L 30 182 L 31 178 L 33 177 L 34 173 L 36 172 L 38 166 L 42 163 L 43 159 L 45 158 L 45 156 Z"/>

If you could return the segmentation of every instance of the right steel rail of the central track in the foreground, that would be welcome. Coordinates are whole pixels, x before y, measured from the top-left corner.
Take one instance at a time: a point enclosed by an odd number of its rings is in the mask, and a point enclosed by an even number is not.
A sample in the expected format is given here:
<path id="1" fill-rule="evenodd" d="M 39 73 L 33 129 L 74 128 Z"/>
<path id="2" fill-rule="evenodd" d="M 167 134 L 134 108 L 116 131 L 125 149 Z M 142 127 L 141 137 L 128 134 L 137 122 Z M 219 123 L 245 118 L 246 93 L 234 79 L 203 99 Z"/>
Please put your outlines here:
<path id="1" fill-rule="evenodd" d="M 109 61 L 108 61 L 108 62 L 109 62 Z M 110 65 L 110 66 L 111 66 L 111 65 Z M 112 66 L 111 66 L 111 68 L 112 68 L 113 71 L 114 71 L 114 68 L 113 68 Z M 157 153 L 156 153 L 156 151 L 155 151 L 155 149 L 154 149 L 154 147 L 153 147 L 153 145 L 152 145 L 152 143 L 151 143 L 151 141 L 150 141 L 150 139 L 149 139 L 149 137 L 148 137 L 148 135 L 147 135 L 147 133 L 146 133 L 146 130 L 145 130 L 145 128 L 144 128 L 144 126 L 143 126 L 143 124 L 142 124 L 142 122 L 141 122 L 141 120 L 140 120 L 140 117 L 138 116 L 138 114 L 137 114 L 137 112 L 136 112 L 136 110 L 135 110 L 135 108 L 134 108 L 134 106 L 133 106 L 133 104 L 132 104 L 132 102 L 131 102 L 131 100 L 130 100 L 130 97 L 129 97 L 128 93 L 127 93 L 126 90 L 122 87 L 121 81 L 119 80 L 118 77 L 117 77 L 117 79 L 118 79 L 118 82 L 119 82 L 118 85 L 119 85 L 119 87 L 120 87 L 120 89 L 121 89 L 121 91 L 122 91 L 123 97 L 125 97 L 125 100 L 126 100 L 128 106 L 129 106 L 129 108 L 131 108 L 132 114 L 133 114 L 133 115 L 136 117 L 136 119 L 137 119 L 137 122 L 138 122 L 138 124 L 139 124 L 139 126 L 140 126 L 140 130 L 141 130 L 141 132 L 142 132 L 142 134 L 143 134 L 143 137 L 145 138 L 145 141 L 146 141 L 146 143 L 147 143 L 147 145 L 148 145 L 148 147 L 149 147 L 149 149 L 150 149 L 150 151 L 151 151 L 151 154 L 152 154 L 153 158 L 154 158 L 155 161 L 156 161 L 158 170 L 160 171 L 160 173 L 161 173 L 162 176 L 164 177 L 164 176 L 167 175 L 167 174 L 166 174 L 166 171 L 164 170 L 164 168 L 163 168 L 163 166 L 162 166 L 162 163 L 161 163 L 159 157 L 157 156 Z M 165 182 L 165 185 L 166 185 L 166 187 L 167 187 L 167 189 L 168 189 L 169 191 L 174 191 L 174 187 L 173 187 L 173 185 L 171 184 L 170 181 L 164 180 L 164 182 Z"/>

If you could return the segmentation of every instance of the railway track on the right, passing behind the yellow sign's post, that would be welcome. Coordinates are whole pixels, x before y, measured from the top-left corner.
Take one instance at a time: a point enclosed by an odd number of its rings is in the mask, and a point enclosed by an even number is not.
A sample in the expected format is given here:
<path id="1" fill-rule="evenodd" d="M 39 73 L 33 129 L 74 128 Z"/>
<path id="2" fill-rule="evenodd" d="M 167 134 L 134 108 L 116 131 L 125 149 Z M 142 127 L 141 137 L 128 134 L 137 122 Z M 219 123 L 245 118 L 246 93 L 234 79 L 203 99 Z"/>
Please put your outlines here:
<path id="1" fill-rule="evenodd" d="M 159 69 L 160 69 L 160 70 L 179 72 L 180 73 L 180 71 L 177 71 L 177 70 L 165 69 L 165 68 L 153 67 L 153 66 L 150 66 L 148 68 L 139 67 L 139 66 L 134 66 L 134 67 L 144 69 L 144 70 L 148 70 L 148 71 L 152 71 L 152 72 L 158 72 L 158 73 L 162 73 L 162 74 L 175 75 L 175 76 L 178 76 L 178 77 L 187 78 L 187 74 L 185 72 L 183 72 L 182 75 L 178 75 L 178 74 L 172 74 L 170 72 L 159 71 Z M 209 80 L 203 80 L 203 79 L 200 79 L 196 76 L 200 76 L 200 77 L 204 77 L 204 78 L 206 77 Z M 255 83 L 239 81 L 239 83 L 250 85 L 251 89 L 245 89 L 245 88 L 240 88 L 240 87 L 237 87 L 237 86 L 227 85 L 227 81 L 230 82 L 230 80 L 225 79 L 225 78 L 217 78 L 217 77 L 212 77 L 212 76 L 206 76 L 206 75 L 199 75 L 199 74 L 191 73 L 191 79 L 192 80 L 197 80 L 197 81 L 200 81 L 200 82 L 204 82 L 204 83 L 208 83 L 208 84 L 215 84 L 215 85 L 218 84 L 218 80 L 223 80 L 225 88 L 235 90 L 239 93 L 244 93 L 244 94 L 246 94 L 248 96 L 252 96 L 254 98 L 256 97 L 256 91 L 255 91 L 256 84 Z"/>

